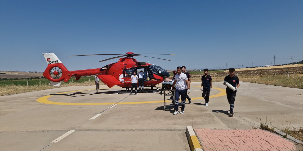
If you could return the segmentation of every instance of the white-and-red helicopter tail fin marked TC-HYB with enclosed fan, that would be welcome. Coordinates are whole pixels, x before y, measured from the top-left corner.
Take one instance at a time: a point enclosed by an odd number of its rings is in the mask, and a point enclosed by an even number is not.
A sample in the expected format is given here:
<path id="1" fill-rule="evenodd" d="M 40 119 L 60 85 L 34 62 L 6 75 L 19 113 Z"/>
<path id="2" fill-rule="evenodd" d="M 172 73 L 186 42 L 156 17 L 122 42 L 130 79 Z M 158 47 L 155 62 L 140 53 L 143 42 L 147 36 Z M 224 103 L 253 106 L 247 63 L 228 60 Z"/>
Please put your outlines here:
<path id="1" fill-rule="evenodd" d="M 66 69 L 63 63 L 58 59 L 58 57 L 54 53 L 42 53 L 47 65 L 43 76 L 52 82 L 67 82 L 72 73 Z M 53 84 L 52 84 L 53 85 Z M 57 85 L 53 85 L 57 86 Z"/>

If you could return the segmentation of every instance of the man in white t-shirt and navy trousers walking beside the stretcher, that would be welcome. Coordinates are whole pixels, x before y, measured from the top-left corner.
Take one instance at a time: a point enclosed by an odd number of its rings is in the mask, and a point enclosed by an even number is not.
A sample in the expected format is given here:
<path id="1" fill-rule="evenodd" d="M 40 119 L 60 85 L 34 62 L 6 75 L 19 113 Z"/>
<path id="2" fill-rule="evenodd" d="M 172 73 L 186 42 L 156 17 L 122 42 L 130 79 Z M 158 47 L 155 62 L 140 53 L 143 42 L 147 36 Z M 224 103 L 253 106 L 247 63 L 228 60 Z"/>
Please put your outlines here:
<path id="1" fill-rule="evenodd" d="M 179 97 L 181 95 L 181 114 L 184 114 L 184 108 L 185 108 L 185 99 L 186 99 L 186 92 L 185 89 L 187 90 L 187 93 L 190 93 L 189 90 L 189 82 L 188 82 L 188 78 L 186 76 L 186 74 L 182 73 L 182 69 L 180 66 L 177 67 L 177 73 L 175 75 L 175 81 L 171 86 L 171 90 L 172 88 L 177 84 L 176 86 L 176 92 L 175 92 L 175 113 L 174 115 L 177 115 L 179 113 Z M 187 84 L 188 87 L 186 87 L 185 83 Z"/>

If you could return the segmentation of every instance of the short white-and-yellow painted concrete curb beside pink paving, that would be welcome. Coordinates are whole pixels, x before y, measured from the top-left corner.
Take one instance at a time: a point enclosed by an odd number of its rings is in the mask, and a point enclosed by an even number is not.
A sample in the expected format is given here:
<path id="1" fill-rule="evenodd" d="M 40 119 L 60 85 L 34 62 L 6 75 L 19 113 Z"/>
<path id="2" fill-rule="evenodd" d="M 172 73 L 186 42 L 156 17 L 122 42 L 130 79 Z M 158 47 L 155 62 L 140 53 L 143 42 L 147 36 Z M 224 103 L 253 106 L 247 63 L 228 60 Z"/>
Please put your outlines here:
<path id="1" fill-rule="evenodd" d="M 196 133 L 194 132 L 191 126 L 186 127 L 186 137 L 191 151 L 203 151 L 196 136 Z"/>

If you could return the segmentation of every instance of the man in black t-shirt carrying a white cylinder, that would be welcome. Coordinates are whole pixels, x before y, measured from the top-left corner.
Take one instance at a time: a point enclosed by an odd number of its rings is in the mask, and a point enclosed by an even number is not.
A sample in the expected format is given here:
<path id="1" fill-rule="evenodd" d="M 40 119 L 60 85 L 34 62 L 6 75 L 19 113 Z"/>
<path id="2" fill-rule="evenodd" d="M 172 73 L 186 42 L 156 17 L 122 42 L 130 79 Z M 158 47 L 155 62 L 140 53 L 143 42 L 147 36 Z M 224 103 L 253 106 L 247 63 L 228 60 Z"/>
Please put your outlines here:
<path id="1" fill-rule="evenodd" d="M 229 116 L 233 116 L 236 93 L 237 93 L 237 89 L 240 86 L 240 83 L 239 83 L 239 78 L 234 75 L 235 69 L 229 68 L 228 71 L 229 71 L 229 75 L 225 76 L 224 81 L 226 81 L 227 83 L 229 83 L 233 87 L 235 87 L 235 91 L 231 90 L 231 88 L 226 87 L 226 96 L 227 96 L 228 103 L 230 104 Z M 226 85 L 225 82 L 223 82 L 223 85 Z"/>

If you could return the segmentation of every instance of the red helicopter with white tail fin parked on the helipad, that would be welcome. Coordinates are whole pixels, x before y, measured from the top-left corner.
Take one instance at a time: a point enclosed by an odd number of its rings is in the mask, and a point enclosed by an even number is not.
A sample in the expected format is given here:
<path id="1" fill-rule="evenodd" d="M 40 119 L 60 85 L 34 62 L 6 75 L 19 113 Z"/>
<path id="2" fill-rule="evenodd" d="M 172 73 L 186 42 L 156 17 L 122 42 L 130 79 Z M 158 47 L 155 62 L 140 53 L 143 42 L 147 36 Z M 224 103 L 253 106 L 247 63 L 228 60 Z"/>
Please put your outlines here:
<path id="1" fill-rule="evenodd" d="M 42 53 L 48 64 L 45 69 L 43 76 L 50 80 L 52 86 L 60 86 L 61 83 L 68 82 L 68 80 L 74 76 L 76 81 L 82 76 L 92 76 L 98 73 L 98 78 L 101 79 L 105 85 L 112 88 L 114 85 L 118 85 L 122 88 L 130 88 L 132 86 L 131 76 L 133 72 L 143 71 L 144 73 L 144 86 L 151 86 L 151 91 L 155 85 L 163 82 L 163 80 L 169 77 L 169 73 L 161 68 L 160 66 L 154 66 L 145 62 L 138 62 L 134 59 L 134 56 L 141 56 L 142 54 L 134 54 L 128 52 L 125 54 L 93 54 L 93 55 L 76 55 L 76 56 L 95 56 L 95 55 L 119 55 L 109 59 L 102 60 L 107 61 L 110 59 L 120 58 L 118 62 L 111 63 L 102 68 L 96 69 L 86 69 L 86 70 L 76 70 L 68 71 L 63 63 L 58 59 L 54 53 Z M 146 54 L 157 54 L 157 53 L 146 53 Z M 175 54 L 161 54 L 161 55 L 175 55 Z M 123 57 L 123 58 L 121 58 Z M 145 56 L 149 57 L 149 56 Z M 155 58 L 155 57 L 151 57 Z M 157 58 L 161 59 L 161 58 Z M 163 59 L 168 60 L 168 59 Z M 168 60 L 171 61 L 171 60 Z"/>

